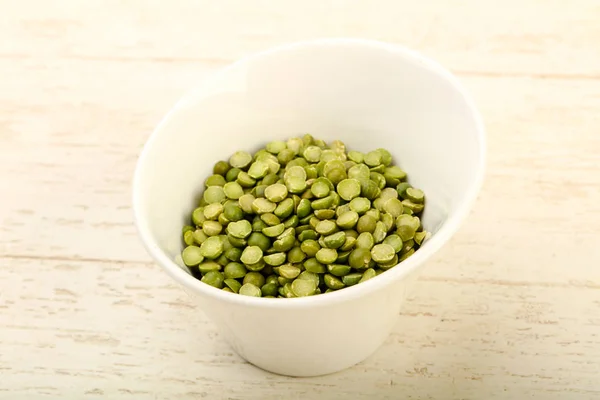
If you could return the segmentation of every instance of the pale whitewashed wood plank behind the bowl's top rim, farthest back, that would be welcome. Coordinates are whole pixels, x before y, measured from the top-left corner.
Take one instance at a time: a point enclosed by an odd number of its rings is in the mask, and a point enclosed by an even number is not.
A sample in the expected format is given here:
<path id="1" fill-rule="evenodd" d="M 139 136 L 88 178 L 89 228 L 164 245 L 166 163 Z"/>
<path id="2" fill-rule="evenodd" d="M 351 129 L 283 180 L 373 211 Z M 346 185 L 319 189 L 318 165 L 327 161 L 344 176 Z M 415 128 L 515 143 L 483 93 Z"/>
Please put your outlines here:
<path id="1" fill-rule="evenodd" d="M 0 57 L 223 65 L 324 36 L 403 43 L 457 71 L 600 76 L 594 0 L 390 2 L 4 0 Z"/>

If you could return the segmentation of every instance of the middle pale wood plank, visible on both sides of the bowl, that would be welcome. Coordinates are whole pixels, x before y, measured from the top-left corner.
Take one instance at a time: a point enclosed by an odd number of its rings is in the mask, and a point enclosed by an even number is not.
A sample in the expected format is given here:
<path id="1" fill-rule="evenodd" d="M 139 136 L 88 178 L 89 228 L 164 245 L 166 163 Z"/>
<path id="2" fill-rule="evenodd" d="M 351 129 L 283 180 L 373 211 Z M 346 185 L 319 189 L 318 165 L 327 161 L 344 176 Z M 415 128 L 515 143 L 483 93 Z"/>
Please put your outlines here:
<path id="1" fill-rule="evenodd" d="M 131 176 L 145 138 L 185 91 L 195 66 L 154 65 L 140 72 L 141 64 L 55 61 L 37 80 L 40 66 L 24 66 L 20 73 L 30 83 L 0 93 L 0 104 L 10 110 L 0 117 L 2 253 L 148 260 L 132 225 Z M 5 65 L 3 72 L 16 73 L 18 67 L 12 68 Z M 107 95 L 97 81 L 69 70 L 103 74 L 104 84 L 118 89 Z M 144 88 L 160 73 L 164 80 Z M 123 77 L 129 83 L 119 87 Z M 600 230 L 600 138 L 594 129 L 600 122 L 600 83 L 463 80 L 489 131 L 487 181 L 464 228 L 427 274 L 599 284 L 599 273 L 588 265 L 600 260 L 593 245 Z M 46 86 L 48 81 L 53 83 Z M 40 85 L 41 93 L 52 85 L 63 89 L 50 100 L 48 94 L 33 95 Z M 139 97 L 142 88 L 145 95 Z M 31 100 L 14 106 L 26 94 Z M 83 96 L 85 101 L 73 102 Z"/>

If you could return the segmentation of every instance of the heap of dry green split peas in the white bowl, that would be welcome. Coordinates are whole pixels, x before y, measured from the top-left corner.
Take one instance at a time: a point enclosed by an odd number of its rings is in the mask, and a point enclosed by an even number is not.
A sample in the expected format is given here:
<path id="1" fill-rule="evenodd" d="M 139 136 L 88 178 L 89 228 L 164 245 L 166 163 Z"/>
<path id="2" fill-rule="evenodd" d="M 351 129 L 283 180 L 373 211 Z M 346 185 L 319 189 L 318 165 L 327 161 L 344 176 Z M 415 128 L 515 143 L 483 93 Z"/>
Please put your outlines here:
<path id="1" fill-rule="evenodd" d="M 306 134 L 215 163 L 182 229 L 183 263 L 216 289 L 306 297 L 402 264 L 426 242 L 425 193 L 385 149 Z"/>

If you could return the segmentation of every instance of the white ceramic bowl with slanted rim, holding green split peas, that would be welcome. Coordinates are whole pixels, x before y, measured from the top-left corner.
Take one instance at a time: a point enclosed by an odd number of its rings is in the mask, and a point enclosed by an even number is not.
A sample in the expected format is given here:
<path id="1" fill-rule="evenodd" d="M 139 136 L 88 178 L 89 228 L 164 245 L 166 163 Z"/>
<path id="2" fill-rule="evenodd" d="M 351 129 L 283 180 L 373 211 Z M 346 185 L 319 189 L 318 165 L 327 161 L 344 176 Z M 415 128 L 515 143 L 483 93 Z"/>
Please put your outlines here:
<path id="1" fill-rule="evenodd" d="M 306 132 L 349 149 L 390 150 L 426 193 L 431 239 L 374 279 L 313 297 L 246 297 L 190 276 L 176 262 L 181 228 L 213 164 Z M 148 252 L 240 356 L 279 374 L 328 374 L 364 360 L 389 335 L 407 288 L 468 214 L 484 160 L 479 113 L 436 63 L 374 41 L 296 43 L 225 68 L 167 114 L 137 164 L 135 221 Z M 196 332 L 190 338 L 201 346 Z"/>

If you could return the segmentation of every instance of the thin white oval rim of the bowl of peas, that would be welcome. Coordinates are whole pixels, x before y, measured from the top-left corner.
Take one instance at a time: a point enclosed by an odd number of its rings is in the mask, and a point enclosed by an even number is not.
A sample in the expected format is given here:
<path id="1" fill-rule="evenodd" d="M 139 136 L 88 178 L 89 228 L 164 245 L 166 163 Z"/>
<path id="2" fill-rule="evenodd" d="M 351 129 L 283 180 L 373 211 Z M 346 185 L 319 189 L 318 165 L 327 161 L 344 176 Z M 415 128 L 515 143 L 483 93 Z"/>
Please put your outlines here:
<path id="1" fill-rule="evenodd" d="M 174 117 L 176 112 L 185 107 L 187 99 L 193 93 L 202 91 L 206 85 L 211 82 L 217 81 L 222 75 L 226 74 L 229 70 L 243 66 L 244 64 L 251 63 L 264 56 L 271 55 L 277 52 L 296 50 L 303 47 L 312 46 L 323 46 L 323 45 L 357 45 L 365 46 L 373 49 L 378 49 L 387 52 L 393 52 L 400 54 L 406 59 L 416 62 L 422 68 L 428 69 L 430 72 L 443 78 L 450 86 L 463 98 L 467 105 L 467 110 L 471 115 L 475 123 L 475 129 L 477 132 L 477 139 L 479 141 L 479 167 L 475 173 L 473 181 L 470 183 L 468 190 L 465 193 L 464 199 L 461 204 L 457 207 L 456 211 L 448 216 L 446 221 L 442 224 L 440 229 L 431 236 L 427 241 L 427 244 L 415 252 L 410 258 L 402 262 L 402 268 L 391 268 L 386 271 L 385 274 L 378 275 L 360 285 L 353 285 L 344 290 L 335 291 L 332 293 L 324 293 L 317 296 L 309 297 L 298 297 L 288 298 L 285 300 L 278 298 L 263 298 L 263 297 L 250 297 L 242 296 L 236 293 L 228 293 L 223 290 L 214 288 L 198 279 L 194 278 L 187 272 L 185 272 L 179 265 L 176 264 L 167 254 L 160 249 L 158 244 L 155 242 L 153 235 L 151 234 L 150 228 L 148 227 L 147 221 L 144 219 L 144 207 L 143 199 L 139 190 L 141 184 L 141 177 L 143 175 L 143 166 L 146 164 L 146 158 L 148 157 L 149 149 L 152 147 L 154 140 L 160 132 L 163 130 L 169 121 Z M 161 119 L 156 128 L 150 134 L 148 140 L 142 148 L 142 151 L 138 157 L 132 185 L 132 205 L 134 213 L 134 223 L 137 228 L 138 234 L 141 237 L 142 243 L 148 253 L 151 255 L 153 260 L 158 263 L 168 275 L 170 275 L 175 281 L 189 289 L 190 291 L 202 295 L 214 298 L 215 300 L 230 303 L 235 305 L 244 305 L 258 308 L 269 308 L 269 309 L 297 309 L 297 308 L 312 308 L 323 305 L 332 305 L 340 302 L 346 302 L 355 300 L 359 297 L 366 296 L 377 290 L 381 290 L 384 287 L 391 285 L 403 278 L 406 278 L 412 274 L 416 269 L 422 266 L 433 254 L 437 253 L 440 248 L 448 242 L 448 240 L 456 233 L 460 228 L 463 221 L 470 213 L 473 204 L 475 203 L 477 196 L 483 185 L 483 179 L 485 175 L 485 162 L 486 162 L 486 134 L 483 119 L 475 106 L 471 96 L 462 86 L 460 81 L 441 64 L 429 59 L 415 50 L 409 49 L 403 45 L 393 44 L 389 42 L 383 42 L 371 39 L 362 38 L 321 38 L 304 40 L 298 42 L 292 42 L 288 44 L 278 45 L 258 53 L 251 54 L 243 57 L 238 61 L 235 61 L 224 68 L 210 74 L 200 85 L 197 85 L 192 90 L 188 91 L 175 105 L 167 112 L 167 114 Z"/>

